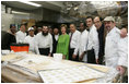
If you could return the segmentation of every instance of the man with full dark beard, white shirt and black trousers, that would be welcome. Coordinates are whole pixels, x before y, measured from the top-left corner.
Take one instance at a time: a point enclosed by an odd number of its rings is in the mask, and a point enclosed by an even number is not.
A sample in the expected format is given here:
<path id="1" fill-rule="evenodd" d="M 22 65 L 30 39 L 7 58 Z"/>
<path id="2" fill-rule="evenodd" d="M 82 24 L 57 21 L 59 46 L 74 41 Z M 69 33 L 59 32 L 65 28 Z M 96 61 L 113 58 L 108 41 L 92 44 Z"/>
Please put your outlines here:
<path id="1" fill-rule="evenodd" d="M 52 52 L 52 37 L 48 33 L 48 26 L 43 26 L 43 32 L 35 37 L 35 48 L 37 55 L 51 56 Z"/>

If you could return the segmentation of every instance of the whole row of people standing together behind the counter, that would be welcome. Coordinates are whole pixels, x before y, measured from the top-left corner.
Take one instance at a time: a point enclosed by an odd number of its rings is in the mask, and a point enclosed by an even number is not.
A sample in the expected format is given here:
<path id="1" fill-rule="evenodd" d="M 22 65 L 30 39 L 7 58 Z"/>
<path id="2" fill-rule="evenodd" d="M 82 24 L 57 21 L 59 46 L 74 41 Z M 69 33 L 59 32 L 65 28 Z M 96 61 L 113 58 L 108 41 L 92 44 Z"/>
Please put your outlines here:
<path id="1" fill-rule="evenodd" d="M 86 25 L 85 25 L 86 24 Z M 67 29 L 70 33 L 67 34 Z M 2 41 L 2 48 L 9 48 L 11 43 L 27 43 L 30 51 L 37 55 L 52 57 L 52 53 L 62 53 L 63 59 L 103 64 L 117 68 L 124 74 L 128 68 L 128 28 L 119 29 L 115 25 L 113 16 L 106 16 L 103 21 L 99 16 L 87 16 L 85 22 L 80 22 L 79 29 L 75 24 L 61 24 L 54 27 L 54 33 L 48 26 L 43 26 L 42 32 L 35 35 L 35 28 L 30 27 L 26 36 L 25 25 L 21 25 L 15 33 L 15 26 L 10 26 L 8 39 Z"/>

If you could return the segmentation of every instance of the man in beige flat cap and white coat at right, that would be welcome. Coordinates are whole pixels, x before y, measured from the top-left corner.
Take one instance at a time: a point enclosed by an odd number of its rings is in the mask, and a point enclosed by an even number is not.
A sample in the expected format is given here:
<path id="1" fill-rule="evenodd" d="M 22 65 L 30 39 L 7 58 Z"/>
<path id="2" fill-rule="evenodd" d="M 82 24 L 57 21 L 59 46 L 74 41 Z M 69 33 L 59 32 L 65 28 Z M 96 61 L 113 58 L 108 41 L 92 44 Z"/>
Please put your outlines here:
<path id="1" fill-rule="evenodd" d="M 113 16 L 106 16 L 104 19 L 104 24 L 105 28 L 108 32 L 106 35 L 106 43 L 105 43 L 105 63 L 107 67 L 116 68 L 120 60 L 119 55 L 121 55 L 119 53 L 120 31 L 116 27 L 115 20 Z M 124 44 L 121 44 L 121 46 L 124 47 Z M 121 60 L 120 62 L 125 61 Z"/>

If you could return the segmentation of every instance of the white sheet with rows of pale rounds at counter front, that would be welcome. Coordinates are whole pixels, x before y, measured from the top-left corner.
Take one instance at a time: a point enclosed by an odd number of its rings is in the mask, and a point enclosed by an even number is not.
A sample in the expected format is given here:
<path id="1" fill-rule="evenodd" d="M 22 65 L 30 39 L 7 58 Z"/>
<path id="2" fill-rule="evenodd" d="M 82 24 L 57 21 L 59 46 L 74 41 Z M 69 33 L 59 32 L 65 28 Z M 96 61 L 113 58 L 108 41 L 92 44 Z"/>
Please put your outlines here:
<path id="1" fill-rule="evenodd" d="M 43 70 L 38 71 L 38 73 L 45 83 L 73 83 L 98 79 L 105 75 L 105 73 L 90 69 L 86 65 L 59 70 Z"/>

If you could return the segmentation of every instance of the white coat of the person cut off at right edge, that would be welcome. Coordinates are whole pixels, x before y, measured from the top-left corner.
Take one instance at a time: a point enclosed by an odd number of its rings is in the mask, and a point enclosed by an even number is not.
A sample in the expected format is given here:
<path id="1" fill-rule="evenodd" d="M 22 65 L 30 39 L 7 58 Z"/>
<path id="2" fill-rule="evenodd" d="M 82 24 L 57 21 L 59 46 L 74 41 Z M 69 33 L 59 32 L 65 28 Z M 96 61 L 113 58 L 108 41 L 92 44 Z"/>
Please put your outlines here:
<path id="1" fill-rule="evenodd" d="M 120 38 L 118 43 L 118 65 L 128 68 L 128 36 Z"/>

